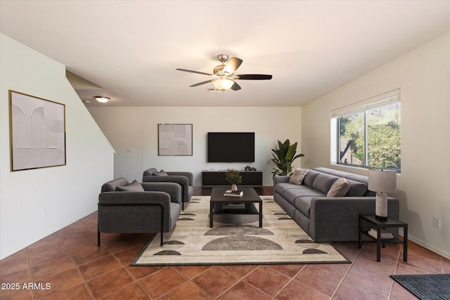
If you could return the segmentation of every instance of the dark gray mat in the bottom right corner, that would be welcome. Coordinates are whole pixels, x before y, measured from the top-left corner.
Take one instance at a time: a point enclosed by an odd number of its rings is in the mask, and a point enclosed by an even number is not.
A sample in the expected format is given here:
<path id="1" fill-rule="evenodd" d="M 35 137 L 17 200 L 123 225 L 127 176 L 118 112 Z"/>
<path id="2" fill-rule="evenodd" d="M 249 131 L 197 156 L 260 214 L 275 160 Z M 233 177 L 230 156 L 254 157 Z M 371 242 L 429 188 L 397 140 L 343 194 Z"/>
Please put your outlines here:
<path id="1" fill-rule="evenodd" d="M 391 275 L 420 300 L 450 299 L 450 274 Z"/>

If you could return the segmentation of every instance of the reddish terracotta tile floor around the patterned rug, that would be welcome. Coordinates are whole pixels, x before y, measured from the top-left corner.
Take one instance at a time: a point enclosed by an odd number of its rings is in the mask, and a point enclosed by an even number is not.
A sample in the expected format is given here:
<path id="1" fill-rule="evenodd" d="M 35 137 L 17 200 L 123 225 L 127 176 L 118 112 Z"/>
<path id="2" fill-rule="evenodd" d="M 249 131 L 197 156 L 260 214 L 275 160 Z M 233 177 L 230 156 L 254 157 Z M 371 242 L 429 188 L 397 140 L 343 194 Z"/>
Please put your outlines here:
<path id="1" fill-rule="evenodd" d="M 151 235 L 104 233 L 97 247 L 96 230 L 93 213 L 2 259 L 0 299 L 415 299 L 389 276 L 450 273 L 449 259 L 411 241 L 407 262 L 401 244 L 377 262 L 374 242 L 337 242 L 352 263 L 131 267 Z"/>

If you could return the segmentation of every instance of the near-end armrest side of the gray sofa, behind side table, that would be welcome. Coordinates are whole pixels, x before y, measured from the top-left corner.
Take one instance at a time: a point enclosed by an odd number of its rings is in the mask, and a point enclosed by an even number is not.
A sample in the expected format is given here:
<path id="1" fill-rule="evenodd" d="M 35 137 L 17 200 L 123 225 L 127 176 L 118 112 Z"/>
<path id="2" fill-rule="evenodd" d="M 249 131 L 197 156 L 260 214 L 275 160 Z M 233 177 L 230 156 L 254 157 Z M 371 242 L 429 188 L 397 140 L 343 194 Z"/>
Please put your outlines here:
<path id="1" fill-rule="evenodd" d="M 360 214 L 375 214 L 375 197 L 314 197 L 309 234 L 316 242 L 358 240 Z M 388 197 L 387 214 L 399 219 L 399 200 Z M 398 236 L 398 228 L 392 233 Z"/>

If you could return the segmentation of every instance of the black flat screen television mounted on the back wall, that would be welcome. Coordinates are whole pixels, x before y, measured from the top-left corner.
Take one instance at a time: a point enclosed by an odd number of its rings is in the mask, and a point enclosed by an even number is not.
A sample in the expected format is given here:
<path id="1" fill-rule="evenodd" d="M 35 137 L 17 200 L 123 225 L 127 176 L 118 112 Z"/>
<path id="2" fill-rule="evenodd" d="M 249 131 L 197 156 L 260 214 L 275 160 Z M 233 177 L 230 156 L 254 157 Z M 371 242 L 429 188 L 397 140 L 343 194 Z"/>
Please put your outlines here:
<path id="1" fill-rule="evenodd" d="M 255 162 L 255 132 L 208 132 L 207 162 Z"/>

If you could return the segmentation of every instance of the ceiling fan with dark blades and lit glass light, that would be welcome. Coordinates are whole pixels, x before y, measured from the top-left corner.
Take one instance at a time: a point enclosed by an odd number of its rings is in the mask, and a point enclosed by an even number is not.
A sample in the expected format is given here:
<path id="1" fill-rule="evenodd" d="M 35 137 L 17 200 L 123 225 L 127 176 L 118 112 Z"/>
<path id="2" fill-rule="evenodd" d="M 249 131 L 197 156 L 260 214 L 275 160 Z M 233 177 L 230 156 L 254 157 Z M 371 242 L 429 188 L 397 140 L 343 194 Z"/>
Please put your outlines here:
<path id="1" fill-rule="evenodd" d="M 198 84 L 193 84 L 191 86 L 200 86 L 202 84 L 207 84 L 212 82 L 215 88 L 219 91 L 226 91 L 232 89 L 233 91 L 240 90 L 239 84 L 236 83 L 236 79 L 244 79 L 244 80 L 268 80 L 272 79 L 272 75 L 265 74 L 243 74 L 243 75 L 235 75 L 234 72 L 238 69 L 240 64 L 243 62 L 240 58 L 231 58 L 228 59 L 228 55 L 219 54 L 217 59 L 221 62 L 221 65 L 217 65 L 214 67 L 212 74 L 205 72 L 198 72 L 193 70 L 186 69 L 176 69 L 184 72 L 191 72 L 197 74 L 208 75 L 212 77 L 210 80 L 199 82 Z"/>

